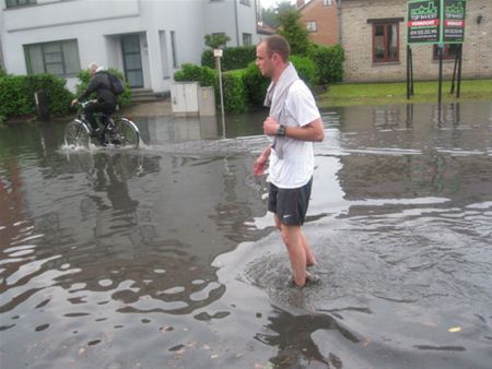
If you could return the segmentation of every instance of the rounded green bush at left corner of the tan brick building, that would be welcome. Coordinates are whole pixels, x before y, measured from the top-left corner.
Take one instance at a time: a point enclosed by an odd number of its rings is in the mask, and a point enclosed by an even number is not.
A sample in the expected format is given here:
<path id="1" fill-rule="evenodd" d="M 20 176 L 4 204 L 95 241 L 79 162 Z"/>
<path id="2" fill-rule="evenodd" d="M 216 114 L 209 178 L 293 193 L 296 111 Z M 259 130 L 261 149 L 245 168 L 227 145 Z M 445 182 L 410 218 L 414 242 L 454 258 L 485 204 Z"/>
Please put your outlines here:
<path id="1" fill-rule="evenodd" d="M 312 56 L 318 69 L 318 83 L 341 82 L 343 80 L 343 48 L 340 45 L 318 46 Z"/>

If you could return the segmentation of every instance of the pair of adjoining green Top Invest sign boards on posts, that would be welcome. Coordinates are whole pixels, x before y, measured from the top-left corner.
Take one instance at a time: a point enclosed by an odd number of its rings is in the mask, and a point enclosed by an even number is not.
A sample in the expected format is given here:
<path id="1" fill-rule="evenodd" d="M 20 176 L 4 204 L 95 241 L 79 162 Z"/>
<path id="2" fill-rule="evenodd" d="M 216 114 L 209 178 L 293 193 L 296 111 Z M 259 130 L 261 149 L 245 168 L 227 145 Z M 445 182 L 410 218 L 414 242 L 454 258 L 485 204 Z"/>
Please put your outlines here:
<path id="1" fill-rule="evenodd" d="M 465 39 L 466 0 L 410 0 L 409 44 L 459 44 Z"/>

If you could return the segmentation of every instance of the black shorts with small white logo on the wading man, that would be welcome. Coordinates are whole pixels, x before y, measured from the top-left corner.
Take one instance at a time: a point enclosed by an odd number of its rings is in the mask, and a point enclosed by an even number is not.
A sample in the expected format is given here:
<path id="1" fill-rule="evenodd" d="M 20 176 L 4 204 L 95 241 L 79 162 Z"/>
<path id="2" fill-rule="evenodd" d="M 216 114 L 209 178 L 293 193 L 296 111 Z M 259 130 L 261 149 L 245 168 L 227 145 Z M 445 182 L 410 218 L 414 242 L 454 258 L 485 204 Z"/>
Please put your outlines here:
<path id="1" fill-rule="evenodd" d="M 279 189 L 270 183 L 268 210 L 276 213 L 282 224 L 302 226 L 306 218 L 312 187 L 313 178 L 296 189 Z"/>

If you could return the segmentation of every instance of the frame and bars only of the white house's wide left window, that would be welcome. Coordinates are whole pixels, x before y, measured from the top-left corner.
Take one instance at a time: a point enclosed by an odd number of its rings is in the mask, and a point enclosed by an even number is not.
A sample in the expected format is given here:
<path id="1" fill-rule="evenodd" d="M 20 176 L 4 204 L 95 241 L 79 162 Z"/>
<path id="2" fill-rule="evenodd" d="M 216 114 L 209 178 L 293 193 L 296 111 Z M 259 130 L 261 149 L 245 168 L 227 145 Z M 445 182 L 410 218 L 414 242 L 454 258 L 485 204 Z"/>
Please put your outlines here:
<path id="1" fill-rule="evenodd" d="M 69 69 L 69 64 L 68 64 L 68 59 L 66 53 L 63 52 L 63 44 L 68 44 L 68 43 L 73 43 L 75 44 L 75 48 L 77 48 L 77 52 L 78 52 L 78 64 L 73 66 L 73 72 L 68 72 L 67 70 Z M 59 51 L 58 52 L 52 52 L 47 50 L 48 47 L 50 46 L 58 46 Z M 24 60 L 26 63 L 26 71 L 27 74 L 33 75 L 33 74 L 37 74 L 37 71 L 33 70 L 33 63 L 32 63 L 32 58 L 31 58 L 31 49 L 35 48 L 35 47 L 40 47 L 40 52 L 42 52 L 42 57 L 43 57 L 43 73 L 49 73 L 52 75 L 58 75 L 61 78 L 73 78 L 77 76 L 78 73 L 81 71 L 81 67 L 80 67 L 80 56 L 79 56 L 79 43 L 77 38 L 69 38 L 69 39 L 60 39 L 60 40 L 52 40 L 52 41 L 46 41 L 46 43 L 36 43 L 36 44 L 25 44 L 23 45 L 23 49 L 24 49 Z M 60 61 L 59 62 L 55 62 L 55 61 L 50 61 L 47 59 L 50 59 L 49 56 L 50 55 L 59 55 L 60 56 Z M 48 67 L 52 66 L 52 64 L 61 64 L 61 70 L 62 73 L 54 73 L 54 72 L 49 72 L 48 71 Z"/>

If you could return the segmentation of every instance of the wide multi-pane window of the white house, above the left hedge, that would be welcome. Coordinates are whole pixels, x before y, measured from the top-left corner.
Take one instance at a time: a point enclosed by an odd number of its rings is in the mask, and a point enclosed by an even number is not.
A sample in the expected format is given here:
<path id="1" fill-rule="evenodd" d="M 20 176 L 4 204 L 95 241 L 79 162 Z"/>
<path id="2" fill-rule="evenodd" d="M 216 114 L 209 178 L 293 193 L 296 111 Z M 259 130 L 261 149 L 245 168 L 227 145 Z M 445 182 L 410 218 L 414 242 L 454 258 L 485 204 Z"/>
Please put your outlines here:
<path id="1" fill-rule="evenodd" d="M 80 71 L 77 39 L 24 45 L 24 55 L 28 74 L 73 76 Z"/>

